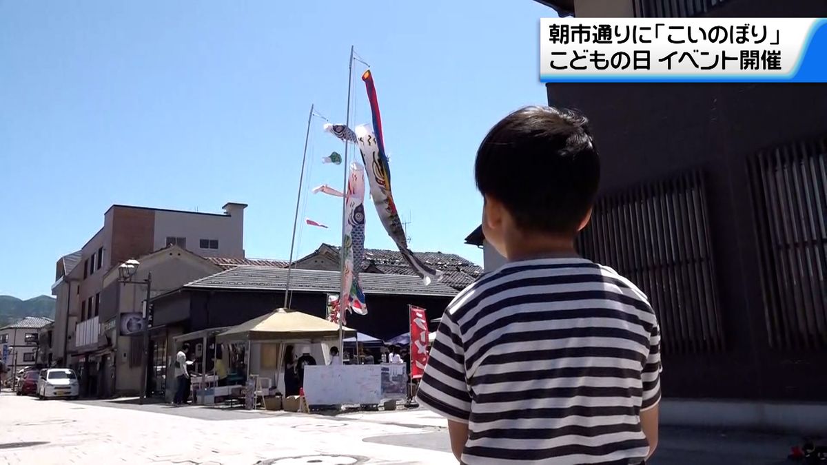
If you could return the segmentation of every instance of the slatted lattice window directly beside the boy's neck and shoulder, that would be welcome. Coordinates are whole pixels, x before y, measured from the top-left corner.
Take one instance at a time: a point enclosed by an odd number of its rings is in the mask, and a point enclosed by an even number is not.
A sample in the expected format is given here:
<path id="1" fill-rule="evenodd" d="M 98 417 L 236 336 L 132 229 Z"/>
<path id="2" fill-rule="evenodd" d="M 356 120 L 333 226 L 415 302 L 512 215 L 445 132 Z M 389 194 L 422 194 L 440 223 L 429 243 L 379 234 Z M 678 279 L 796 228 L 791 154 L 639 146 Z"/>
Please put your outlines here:
<path id="1" fill-rule="evenodd" d="M 700 172 L 600 197 L 577 248 L 648 296 L 671 353 L 724 349 Z"/>

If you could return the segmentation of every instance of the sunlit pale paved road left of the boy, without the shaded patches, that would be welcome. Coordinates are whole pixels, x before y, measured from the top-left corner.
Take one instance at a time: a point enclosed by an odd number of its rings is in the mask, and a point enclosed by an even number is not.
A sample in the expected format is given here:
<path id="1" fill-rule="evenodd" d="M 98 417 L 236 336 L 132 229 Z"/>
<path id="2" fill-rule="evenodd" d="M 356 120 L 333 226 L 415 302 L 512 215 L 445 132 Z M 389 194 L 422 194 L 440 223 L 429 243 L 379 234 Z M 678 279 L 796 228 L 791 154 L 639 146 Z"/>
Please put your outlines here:
<path id="1" fill-rule="evenodd" d="M 379 416 L 379 415 L 375 415 Z M 420 424 L 347 415 L 222 411 L 0 395 L 0 464 L 220 463 L 345 465 L 453 463 L 432 449 L 366 438 L 433 432 Z"/>

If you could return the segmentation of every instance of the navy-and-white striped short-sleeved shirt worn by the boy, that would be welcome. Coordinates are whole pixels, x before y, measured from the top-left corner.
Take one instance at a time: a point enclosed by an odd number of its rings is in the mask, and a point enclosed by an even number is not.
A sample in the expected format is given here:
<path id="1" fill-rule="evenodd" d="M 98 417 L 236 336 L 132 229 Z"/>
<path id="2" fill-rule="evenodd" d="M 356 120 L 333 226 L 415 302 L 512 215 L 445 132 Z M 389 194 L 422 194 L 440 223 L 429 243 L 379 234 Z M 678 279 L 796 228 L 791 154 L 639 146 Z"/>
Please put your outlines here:
<path id="1" fill-rule="evenodd" d="M 659 349 L 646 295 L 609 267 L 513 262 L 448 306 L 417 398 L 468 424 L 462 463 L 641 463 Z"/>

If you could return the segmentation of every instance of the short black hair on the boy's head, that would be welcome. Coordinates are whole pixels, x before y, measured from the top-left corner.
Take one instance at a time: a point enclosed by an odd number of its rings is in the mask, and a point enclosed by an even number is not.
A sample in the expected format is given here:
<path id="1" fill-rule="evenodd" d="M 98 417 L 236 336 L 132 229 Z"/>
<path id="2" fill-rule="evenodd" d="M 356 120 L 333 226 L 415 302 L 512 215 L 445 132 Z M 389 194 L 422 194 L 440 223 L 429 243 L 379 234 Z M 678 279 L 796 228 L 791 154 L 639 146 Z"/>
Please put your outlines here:
<path id="1" fill-rule="evenodd" d="M 480 193 L 502 202 L 519 228 L 573 235 L 595 202 L 600 156 L 585 116 L 525 107 L 491 128 L 474 171 Z"/>

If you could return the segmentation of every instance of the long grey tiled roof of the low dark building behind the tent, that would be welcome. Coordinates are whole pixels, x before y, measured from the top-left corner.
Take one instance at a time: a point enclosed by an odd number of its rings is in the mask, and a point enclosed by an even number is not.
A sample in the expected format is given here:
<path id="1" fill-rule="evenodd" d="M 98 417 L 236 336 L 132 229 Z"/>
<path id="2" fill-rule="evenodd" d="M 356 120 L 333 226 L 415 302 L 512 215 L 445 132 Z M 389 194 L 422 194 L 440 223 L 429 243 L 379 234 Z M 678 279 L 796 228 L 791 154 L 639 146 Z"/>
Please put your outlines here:
<path id="1" fill-rule="evenodd" d="M 338 271 L 293 270 L 290 276 L 291 290 L 315 292 L 339 292 Z M 380 295 L 433 295 L 452 297 L 457 290 L 442 283 L 423 285 L 417 276 L 379 275 L 361 273 L 362 290 L 366 294 Z M 284 290 L 287 270 L 274 266 L 241 265 L 213 276 L 194 280 L 184 288 L 227 290 Z"/>

